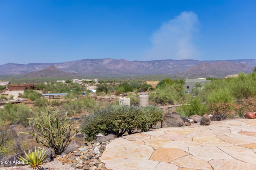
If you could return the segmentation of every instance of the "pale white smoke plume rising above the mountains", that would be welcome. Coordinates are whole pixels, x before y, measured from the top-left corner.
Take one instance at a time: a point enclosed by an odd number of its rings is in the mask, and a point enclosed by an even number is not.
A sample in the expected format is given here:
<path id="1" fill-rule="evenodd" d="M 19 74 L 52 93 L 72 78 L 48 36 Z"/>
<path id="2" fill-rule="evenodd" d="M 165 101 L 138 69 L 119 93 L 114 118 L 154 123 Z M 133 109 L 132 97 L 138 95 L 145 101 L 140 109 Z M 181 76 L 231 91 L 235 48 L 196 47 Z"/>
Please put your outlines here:
<path id="1" fill-rule="evenodd" d="M 145 60 L 197 58 L 199 51 L 192 39 L 198 25 L 199 20 L 194 12 L 182 12 L 164 23 L 150 37 L 152 48 L 146 52 Z"/>

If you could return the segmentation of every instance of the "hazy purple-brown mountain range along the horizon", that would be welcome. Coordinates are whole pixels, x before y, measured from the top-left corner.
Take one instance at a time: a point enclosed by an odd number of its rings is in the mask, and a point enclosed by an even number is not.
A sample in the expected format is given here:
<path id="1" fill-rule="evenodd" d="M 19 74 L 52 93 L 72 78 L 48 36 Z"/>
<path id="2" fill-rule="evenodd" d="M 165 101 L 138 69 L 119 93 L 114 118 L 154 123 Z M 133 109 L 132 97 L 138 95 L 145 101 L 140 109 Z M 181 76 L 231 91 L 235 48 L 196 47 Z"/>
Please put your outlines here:
<path id="1" fill-rule="evenodd" d="M 256 59 L 198 61 L 157 60 L 127 61 L 124 59 L 84 59 L 64 63 L 7 63 L 0 65 L 0 75 L 24 77 L 115 77 L 162 74 L 180 78 L 222 78 L 239 72 L 253 72 Z"/>

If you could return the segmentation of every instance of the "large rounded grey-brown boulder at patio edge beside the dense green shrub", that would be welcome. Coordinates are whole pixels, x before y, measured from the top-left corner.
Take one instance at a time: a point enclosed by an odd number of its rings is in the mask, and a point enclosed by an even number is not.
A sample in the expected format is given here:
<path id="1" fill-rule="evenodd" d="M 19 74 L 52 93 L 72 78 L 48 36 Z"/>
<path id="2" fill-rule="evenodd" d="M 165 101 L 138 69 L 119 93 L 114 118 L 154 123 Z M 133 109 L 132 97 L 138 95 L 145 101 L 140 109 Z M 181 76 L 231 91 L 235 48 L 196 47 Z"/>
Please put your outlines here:
<path id="1" fill-rule="evenodd" d="M 162 127 L 182 127 L 186 126 L 181 115 L 177 112 L 167 113 L 164 115 Z"/>

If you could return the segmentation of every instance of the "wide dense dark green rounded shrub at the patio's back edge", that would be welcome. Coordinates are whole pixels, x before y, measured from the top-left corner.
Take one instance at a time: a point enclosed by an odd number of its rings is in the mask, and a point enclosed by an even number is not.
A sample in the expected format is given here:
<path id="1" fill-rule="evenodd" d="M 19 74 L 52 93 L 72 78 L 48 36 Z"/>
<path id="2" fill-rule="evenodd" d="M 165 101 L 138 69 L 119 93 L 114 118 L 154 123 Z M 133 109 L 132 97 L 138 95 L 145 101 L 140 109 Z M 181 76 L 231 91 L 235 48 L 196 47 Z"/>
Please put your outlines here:
<path id="1" fill-rule="evenodd" d="M 98 133 L 122 136 L 125 132 L 131 134 L 134 130 L 148 131 L 162 118 L 163 112 L 156 106 L 107 106 L 85 116 L 82 133 L 87 136 L 88 141 L 94 140 Z"/>

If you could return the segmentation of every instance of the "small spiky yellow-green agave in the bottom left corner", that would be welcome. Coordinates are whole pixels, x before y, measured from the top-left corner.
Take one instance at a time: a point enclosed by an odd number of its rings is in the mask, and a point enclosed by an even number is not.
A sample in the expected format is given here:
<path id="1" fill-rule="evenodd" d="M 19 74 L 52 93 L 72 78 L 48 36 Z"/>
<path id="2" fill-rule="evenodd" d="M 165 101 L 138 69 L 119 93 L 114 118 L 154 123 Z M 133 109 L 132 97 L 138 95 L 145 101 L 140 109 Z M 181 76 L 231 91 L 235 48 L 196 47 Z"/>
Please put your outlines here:
<path id="1" fill-rule="evenodd" d="M 32 169 L 40 169 L 40 165 L 44 163 L 44 159 L 47 156 L 47 153 L 46 153 L 47 149 L 45 150 L 42 149 L 39 151 L 38 148 L 35 148 L 34 152 L 32 152 L 32 150 L 28 150 L 28 151 L 29 151 L 28 153 L 24 151 L 27 160 L 20 155 L 18 159 L 32 166 Z"/>

